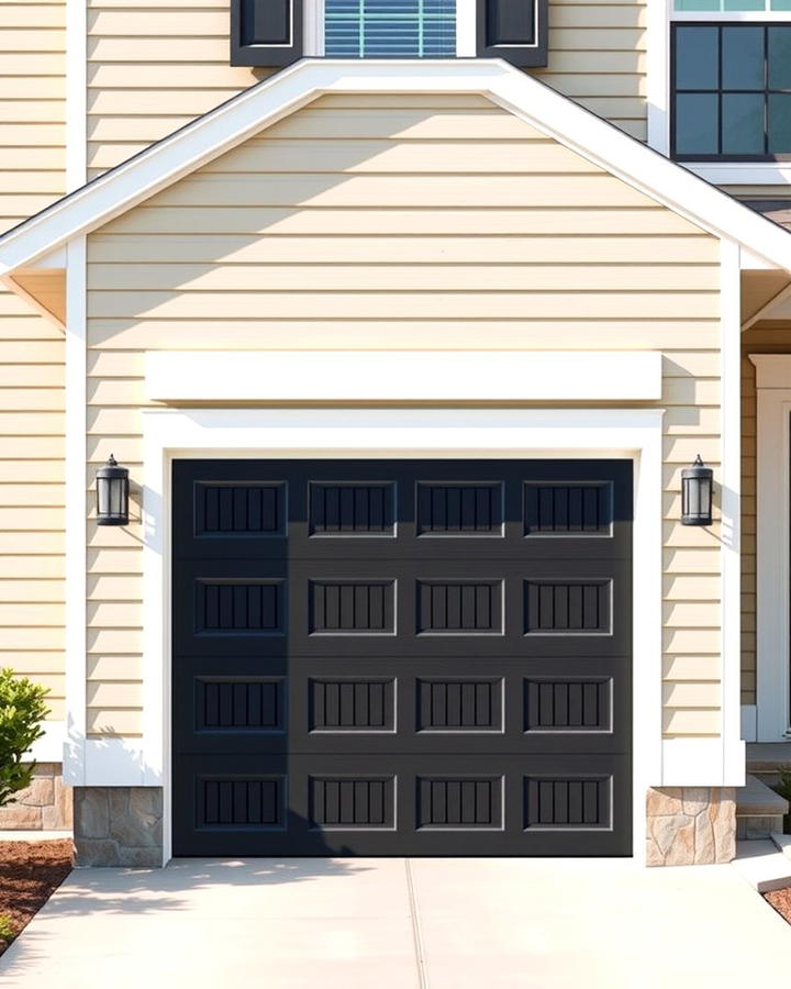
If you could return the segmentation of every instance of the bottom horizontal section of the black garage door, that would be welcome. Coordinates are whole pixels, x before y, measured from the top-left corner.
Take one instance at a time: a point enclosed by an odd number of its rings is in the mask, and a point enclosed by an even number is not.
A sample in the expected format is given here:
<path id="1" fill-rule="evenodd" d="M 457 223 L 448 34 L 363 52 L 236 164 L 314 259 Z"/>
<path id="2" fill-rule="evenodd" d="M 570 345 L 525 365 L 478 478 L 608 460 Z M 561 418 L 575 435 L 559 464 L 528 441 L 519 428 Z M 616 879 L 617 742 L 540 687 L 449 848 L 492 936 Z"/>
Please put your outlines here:
<path id="1" fill-rule="evenodd" d="M 628 757 L 201 757 L 179 774 L 208 854 L 627 854 Z M 615 822 L 621 825 L 615 829 Z"/>

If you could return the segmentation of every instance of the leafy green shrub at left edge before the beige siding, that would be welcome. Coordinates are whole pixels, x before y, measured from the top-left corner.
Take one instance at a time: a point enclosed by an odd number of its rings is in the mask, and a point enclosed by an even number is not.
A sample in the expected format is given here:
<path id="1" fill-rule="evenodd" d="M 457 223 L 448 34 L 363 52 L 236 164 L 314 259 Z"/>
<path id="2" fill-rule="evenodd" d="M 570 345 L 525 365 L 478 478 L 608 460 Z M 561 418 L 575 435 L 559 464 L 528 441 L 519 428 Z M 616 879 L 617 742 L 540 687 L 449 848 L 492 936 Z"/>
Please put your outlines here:
<path id="1" fill-rule="evenodd" d="M 35 763 L 23 763 L 33 743 L 41 738 L 41 722 L 49 713 L 44 698 L 49 691 L 12 669 L 0 669 L 0 807 L 12 803 L 14 793 L 29 787 Z"/>

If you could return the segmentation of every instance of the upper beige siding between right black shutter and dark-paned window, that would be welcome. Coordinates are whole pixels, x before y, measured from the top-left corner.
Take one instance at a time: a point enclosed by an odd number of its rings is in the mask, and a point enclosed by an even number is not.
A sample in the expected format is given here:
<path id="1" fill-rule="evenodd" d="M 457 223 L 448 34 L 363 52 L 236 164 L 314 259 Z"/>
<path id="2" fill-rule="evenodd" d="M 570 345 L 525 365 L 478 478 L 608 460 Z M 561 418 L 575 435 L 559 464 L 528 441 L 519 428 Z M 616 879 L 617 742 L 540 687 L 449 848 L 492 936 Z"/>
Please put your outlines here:
<path id="1" fill-rule="evenodd" d="M 646 0 L 550 0 L 543 82 L 646 140 Z"/>

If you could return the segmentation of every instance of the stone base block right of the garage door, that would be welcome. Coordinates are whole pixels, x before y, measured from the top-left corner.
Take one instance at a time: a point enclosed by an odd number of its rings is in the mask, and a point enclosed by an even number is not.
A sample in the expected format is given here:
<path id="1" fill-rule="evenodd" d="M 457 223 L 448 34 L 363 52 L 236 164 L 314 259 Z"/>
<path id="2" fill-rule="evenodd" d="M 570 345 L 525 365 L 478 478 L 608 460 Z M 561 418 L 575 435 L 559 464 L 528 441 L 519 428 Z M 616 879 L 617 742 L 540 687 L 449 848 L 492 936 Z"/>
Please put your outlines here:
<path id="1" fill-rule="evenodd" d="M 714 865 L 736 857 L 733 787 L 666 787 L 646 798 L 646 865 Z"/>

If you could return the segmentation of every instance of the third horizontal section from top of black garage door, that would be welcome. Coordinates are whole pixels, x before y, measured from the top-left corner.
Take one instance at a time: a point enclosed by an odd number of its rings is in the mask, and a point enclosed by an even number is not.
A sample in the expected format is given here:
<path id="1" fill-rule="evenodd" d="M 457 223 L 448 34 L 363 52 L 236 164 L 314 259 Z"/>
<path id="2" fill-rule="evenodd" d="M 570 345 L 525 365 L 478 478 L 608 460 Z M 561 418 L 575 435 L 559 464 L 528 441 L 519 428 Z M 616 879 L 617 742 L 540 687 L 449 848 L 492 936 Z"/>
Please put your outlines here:
<path id="1" fill-rule="evenodd" d="M 621 664 L 531 673 L 524 664 L 310 664 L 289 676 L 204 674 L 176 711 L 185 752 L 620 753 L 628 751 Z M 466 667 L 466 669 L 465 669 Z M 214 668 L 214 667 L 212 667 Z M 494 673 L 497 670 L 497 673 Z M 288 735 L 286 734 L 288 732 Z M 275 737 L 279 735 L 279 737 Z"/>

